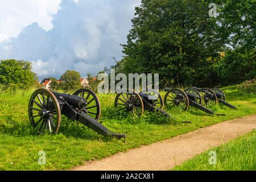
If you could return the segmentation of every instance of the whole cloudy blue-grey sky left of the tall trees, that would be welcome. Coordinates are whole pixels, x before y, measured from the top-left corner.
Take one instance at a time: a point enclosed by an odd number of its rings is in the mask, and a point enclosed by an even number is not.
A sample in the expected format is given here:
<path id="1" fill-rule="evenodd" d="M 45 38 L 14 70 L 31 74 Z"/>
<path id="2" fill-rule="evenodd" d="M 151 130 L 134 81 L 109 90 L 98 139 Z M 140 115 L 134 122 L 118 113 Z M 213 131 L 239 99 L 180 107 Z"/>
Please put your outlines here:
<path id="1" fill-rule="evenodd" d="M 96 75 L 121 60 L 140 0 L 0 0 L 0 60 L 32 63 L 39 76 Z"/>

